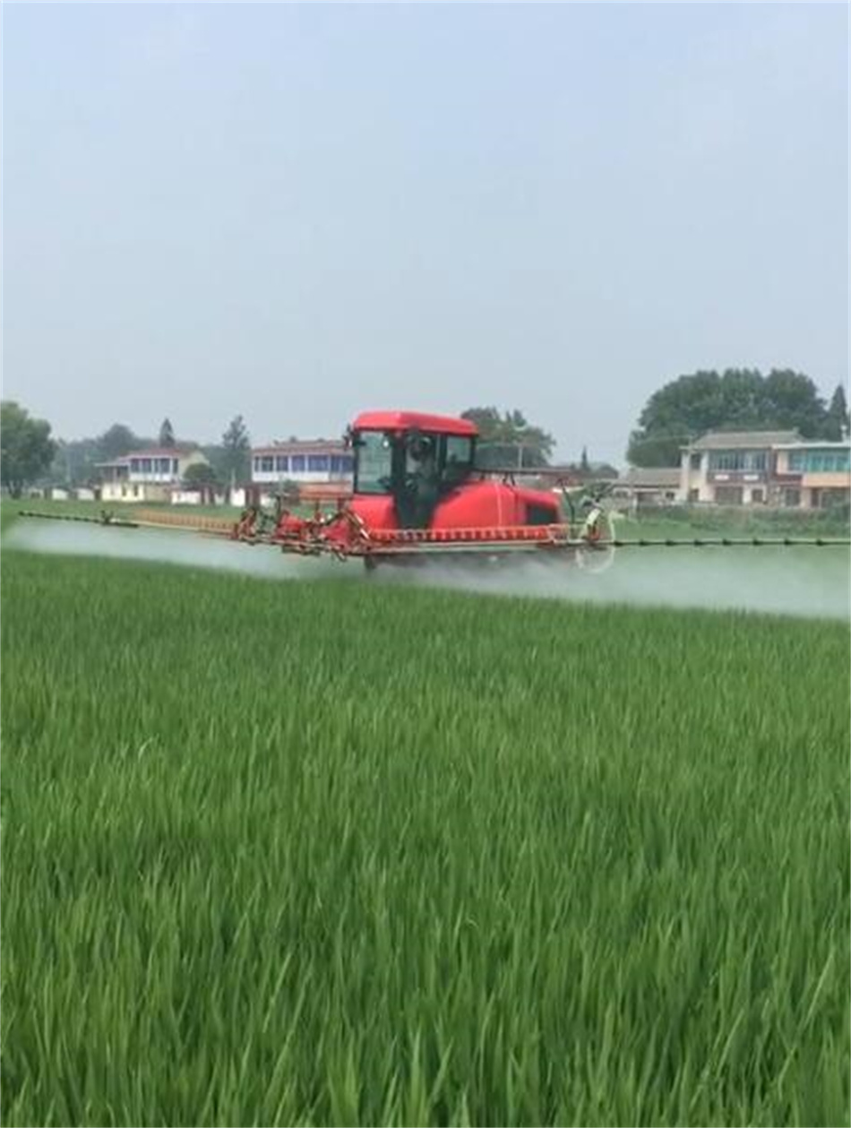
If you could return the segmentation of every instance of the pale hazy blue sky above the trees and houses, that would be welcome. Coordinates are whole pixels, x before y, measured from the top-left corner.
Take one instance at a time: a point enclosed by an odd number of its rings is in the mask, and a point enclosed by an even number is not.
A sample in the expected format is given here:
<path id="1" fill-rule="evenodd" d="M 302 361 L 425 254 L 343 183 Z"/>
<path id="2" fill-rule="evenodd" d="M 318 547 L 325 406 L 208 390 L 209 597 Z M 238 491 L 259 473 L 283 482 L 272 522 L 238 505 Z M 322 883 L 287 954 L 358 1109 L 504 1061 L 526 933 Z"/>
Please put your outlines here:
<path id="1" fill-rule="evenodd" d="M 841 5 L 5 5 L 3 396 L 62 437 L 849 371 Z"/>

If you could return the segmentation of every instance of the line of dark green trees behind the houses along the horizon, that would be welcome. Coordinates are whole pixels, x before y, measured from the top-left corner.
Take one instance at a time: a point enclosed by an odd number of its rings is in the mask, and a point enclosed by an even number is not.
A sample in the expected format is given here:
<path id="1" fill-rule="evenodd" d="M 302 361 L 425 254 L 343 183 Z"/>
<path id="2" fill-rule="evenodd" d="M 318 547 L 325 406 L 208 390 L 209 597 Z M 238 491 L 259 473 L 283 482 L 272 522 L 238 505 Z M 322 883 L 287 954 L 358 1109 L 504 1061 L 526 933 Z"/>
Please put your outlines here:
<path id="1" fill-rule="evenodd" d="M 482 469 L 537 469 L 550 464 L 555 438 L 518 408 L 469 407 L 461 414 L 479 430 Z M 766 376 L 759 369 L 698 371 L 653 393 L 630 434 L 627 460 L 632 466 L 679 466 L 681 448 L 707 431 L 798 431 L 805 439 L 836 441 L 848 437 L 850 425 L 842 385 L 827 403 L 808 376 L 791 369 L 772 369 Z M 187 484 L 227 486 L 250 478 L 251 440 L 241 415 L 230 421 L 220 442 L 206 446 L 179 440 L 168 418 L 156 439 L 114 423 L 95 438 L 65 441 L 52 438 L 46 420 L 5 400 L 0 442 L 0 477 L 14 495 L 36 482 L 90 484 L 98 479 L 99 462 L 154 446 L 201 450 L 207 465 L 190 466 Z M 586 448 L 569 468 L 580 477 L 617 475 L 608 464 L 593 464 Z"/>

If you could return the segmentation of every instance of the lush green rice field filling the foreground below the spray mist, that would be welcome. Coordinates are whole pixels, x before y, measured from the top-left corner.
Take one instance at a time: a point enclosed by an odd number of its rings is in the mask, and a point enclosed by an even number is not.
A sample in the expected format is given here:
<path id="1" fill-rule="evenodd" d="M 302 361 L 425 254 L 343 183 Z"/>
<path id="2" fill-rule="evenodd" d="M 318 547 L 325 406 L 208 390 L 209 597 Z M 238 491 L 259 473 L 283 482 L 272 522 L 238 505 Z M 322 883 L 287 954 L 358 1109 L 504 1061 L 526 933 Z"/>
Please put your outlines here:
<path id="1" fill-rule="evenodd" d="M 2 1123 L 849 1122 L 846 620 L 1 579 Z"/>

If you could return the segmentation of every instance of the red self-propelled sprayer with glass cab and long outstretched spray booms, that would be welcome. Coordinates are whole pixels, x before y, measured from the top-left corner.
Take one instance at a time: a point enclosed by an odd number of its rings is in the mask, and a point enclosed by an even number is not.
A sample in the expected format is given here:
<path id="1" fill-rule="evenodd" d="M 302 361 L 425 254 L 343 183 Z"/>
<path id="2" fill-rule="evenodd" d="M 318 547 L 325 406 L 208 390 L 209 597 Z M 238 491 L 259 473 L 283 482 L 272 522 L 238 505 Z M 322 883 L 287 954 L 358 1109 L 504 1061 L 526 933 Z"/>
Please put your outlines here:
<path id="1" fill-rule="evenodd" d="M 301 517 L 249 506 L 236 523 L 147 512 L 143 519 L 59 518 L 123 528 L 177 528 L 268 545 L 298 556 L 411 564 L 434 557 L 562 557 L 596 570 L 619 548 L 720 545 L 848 545 L 848 538 L 715 537 L 620 539 L 603 504 L 610 484 L 534 490 L 517 484 L 540 470 L 477 466 L 478 431 L 464 418 L 422 412 L 365 412 L 346 432 L 354 455 L 351 497 L 336 511 Z M 27 512 L 27 517 L 45 517 Z M 54 517 L 54 514 L 50 514 Z M 142 514 L 140 514 L 141 517 Z"/>

